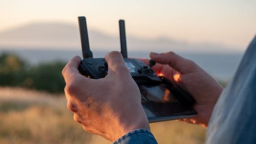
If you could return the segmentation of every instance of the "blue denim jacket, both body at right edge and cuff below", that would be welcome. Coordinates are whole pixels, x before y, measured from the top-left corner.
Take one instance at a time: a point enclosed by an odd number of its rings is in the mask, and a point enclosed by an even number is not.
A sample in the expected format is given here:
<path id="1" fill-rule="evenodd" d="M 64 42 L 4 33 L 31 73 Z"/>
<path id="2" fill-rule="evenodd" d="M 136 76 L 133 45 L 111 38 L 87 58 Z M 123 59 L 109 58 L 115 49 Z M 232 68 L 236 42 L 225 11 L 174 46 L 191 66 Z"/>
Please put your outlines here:
<path id="1" fill-rule="evenodd" d="M 138 129 L 114 143 L 157 143 L 153 134 Z M 234 77 L 212 112 L 206 143 L 256 143 L 256 36 Z"/>

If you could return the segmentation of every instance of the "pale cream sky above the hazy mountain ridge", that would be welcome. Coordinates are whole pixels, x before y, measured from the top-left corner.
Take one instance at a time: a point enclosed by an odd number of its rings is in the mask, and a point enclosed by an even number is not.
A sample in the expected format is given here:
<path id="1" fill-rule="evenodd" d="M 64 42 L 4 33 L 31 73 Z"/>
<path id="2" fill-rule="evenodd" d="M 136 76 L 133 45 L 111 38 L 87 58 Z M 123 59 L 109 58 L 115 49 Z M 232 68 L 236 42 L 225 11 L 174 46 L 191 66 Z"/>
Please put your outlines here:
<path id="1" fill-rule="evenodd" d="M 0 2 L 0 32 L 38 21 L 77 24 L 118 35 L 118 20 L 137 37 L 166 36 L 193 43 L 218 43 L 244 50 L 256 33 L 256 1 L 35 1 Z"/>

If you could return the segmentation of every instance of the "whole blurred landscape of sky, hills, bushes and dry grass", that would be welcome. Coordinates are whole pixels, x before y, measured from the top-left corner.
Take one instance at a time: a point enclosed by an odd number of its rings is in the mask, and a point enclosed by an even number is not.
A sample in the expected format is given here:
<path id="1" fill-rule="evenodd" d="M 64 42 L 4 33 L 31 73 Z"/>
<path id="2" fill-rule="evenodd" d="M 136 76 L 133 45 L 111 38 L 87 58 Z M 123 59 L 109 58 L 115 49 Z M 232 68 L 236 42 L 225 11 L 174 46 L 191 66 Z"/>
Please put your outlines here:
<path id="1" fill-rule="evenodd" d="M 81 56 L 77 23 L 86 16 L 94 57 L 120 50 L 124 19 L 129 57 L 174 51 L 223 86 L 256 32 L 256 1 L 1 1 L 0 143 L 111 143 L 73 121 L 61 70 Z M 159 143 L 204 143 L 205 128 L 151 124 Z"/>

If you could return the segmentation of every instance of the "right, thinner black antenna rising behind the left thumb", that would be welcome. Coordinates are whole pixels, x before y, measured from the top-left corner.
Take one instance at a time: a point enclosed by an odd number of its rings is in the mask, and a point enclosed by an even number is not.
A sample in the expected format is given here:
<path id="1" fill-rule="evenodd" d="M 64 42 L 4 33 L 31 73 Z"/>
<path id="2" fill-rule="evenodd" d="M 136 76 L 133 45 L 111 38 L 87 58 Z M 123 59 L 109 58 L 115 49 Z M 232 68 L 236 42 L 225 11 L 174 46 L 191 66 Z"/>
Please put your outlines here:
<path id="1" fill-rule="evenodd" d="M 120 42 L 121 42 L 121 54 L 123 58 L 127 58 L 125 26 L 124 26 L 124 20 L 122 19 L 119 20 L 119 32 L 120 32 Z"/>

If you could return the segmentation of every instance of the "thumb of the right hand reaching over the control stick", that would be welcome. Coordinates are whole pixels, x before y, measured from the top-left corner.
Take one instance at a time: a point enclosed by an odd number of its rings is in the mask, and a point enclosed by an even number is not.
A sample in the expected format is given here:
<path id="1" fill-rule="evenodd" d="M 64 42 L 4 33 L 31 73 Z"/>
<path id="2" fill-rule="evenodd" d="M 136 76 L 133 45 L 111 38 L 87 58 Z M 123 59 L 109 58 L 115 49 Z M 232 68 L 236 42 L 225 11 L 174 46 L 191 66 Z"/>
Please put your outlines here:
<path id="1" fill-rule="evenodd" d="M 182 74 L 191 73 L 198 69 L 198 66 L 195 62 L 185 59 L 174 52 L 168 53 L 150 53 L 152 60 L 161 63 L 168 64 L 170 67 L 179 71 Z"/>

